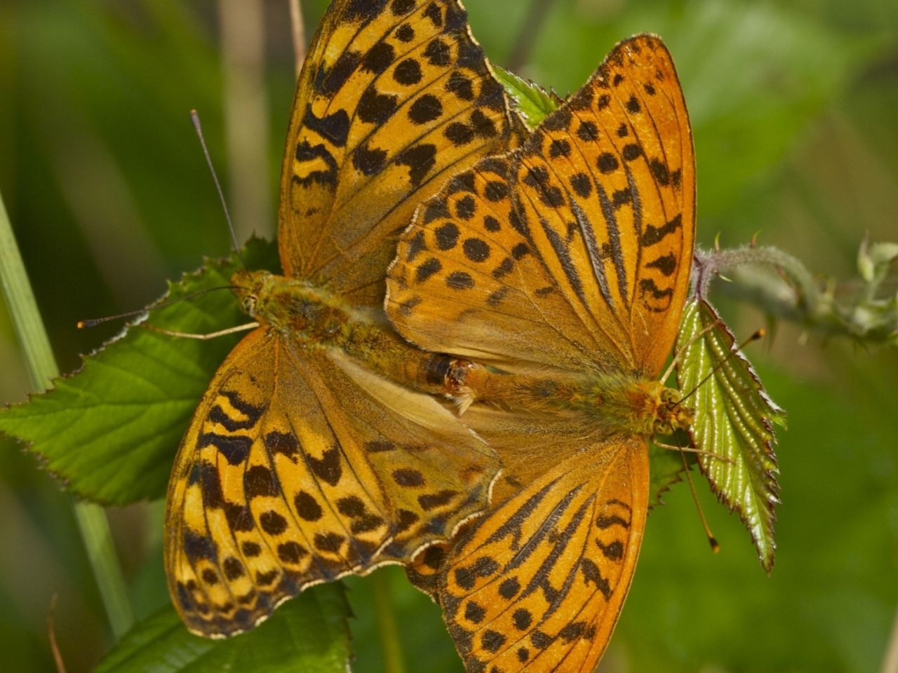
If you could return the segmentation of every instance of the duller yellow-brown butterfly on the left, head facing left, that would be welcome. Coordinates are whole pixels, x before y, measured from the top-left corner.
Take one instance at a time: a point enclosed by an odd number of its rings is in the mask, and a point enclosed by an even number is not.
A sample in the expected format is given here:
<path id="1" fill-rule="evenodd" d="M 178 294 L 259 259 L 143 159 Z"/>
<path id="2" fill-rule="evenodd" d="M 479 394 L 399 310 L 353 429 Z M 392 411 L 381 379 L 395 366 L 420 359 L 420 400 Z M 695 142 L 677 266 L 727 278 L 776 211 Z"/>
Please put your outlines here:
<path id="1" fill-rule="evenodd" d="M 216 372 L 172 469 L 165 569 L 190 631 L 241 633 L 486 508 L 495 454 L 411 389 L 443 360 L 392 331 L 383 276 L 416 205 L 521 134 L 458 2 L 330 5 L 287 136 L 285 275 L 234 275 L 260 327 Z"/>

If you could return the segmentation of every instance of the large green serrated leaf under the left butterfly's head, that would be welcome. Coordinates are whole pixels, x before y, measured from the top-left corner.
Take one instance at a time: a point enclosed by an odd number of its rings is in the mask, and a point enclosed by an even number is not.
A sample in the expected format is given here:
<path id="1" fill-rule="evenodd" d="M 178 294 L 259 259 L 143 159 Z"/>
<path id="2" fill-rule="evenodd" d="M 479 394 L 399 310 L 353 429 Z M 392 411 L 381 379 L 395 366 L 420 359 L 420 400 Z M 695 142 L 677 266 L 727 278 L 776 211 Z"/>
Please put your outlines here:
<path id="1" fill-rule="evenodd" d="M 277 246 L 251 240 L 249 268 L 277 271 Z M 234 258 L 169 285 L 166 299 L 228 286 L 241 265 Z M 157 309 L 159 328 L 207 334 L 248 322 L 231 292 L 213 292 Z M 67 487 L 89 500 L 128 504 L 165 495 L 174 454 L 216 368 L 240 339 L 199 341 L 129 326 L 84 357 L 75 374 L 53 389 L 0 410 L 0 432 L 30 444 Z"/>

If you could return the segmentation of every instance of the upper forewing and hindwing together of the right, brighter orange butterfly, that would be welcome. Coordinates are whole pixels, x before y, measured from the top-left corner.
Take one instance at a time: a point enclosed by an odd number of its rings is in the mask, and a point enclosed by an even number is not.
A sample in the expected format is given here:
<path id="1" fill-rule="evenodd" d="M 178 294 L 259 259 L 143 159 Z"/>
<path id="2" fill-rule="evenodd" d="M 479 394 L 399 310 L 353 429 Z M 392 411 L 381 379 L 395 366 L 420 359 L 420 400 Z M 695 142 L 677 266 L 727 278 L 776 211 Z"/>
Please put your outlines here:
<path id="1" fill-rule="evenodd" d="M 519 150 L 418 210 L 387 310 L 429 350 L 512 371 L 655 376 L 689 289 L 695 160 L 660 39 L 621 42 Z"/>

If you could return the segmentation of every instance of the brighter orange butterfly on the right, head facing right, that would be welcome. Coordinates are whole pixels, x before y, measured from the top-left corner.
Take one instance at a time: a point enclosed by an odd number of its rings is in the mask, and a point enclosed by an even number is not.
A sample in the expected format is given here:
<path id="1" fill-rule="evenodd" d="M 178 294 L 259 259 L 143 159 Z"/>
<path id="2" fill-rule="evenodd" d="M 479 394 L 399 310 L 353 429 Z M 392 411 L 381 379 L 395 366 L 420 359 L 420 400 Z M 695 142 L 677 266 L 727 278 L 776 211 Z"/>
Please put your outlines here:
<path id="1" fill-rule="evenodd" d="M 494 509 L 410 573 L 429 573 L 469 671 L 601 658 L 645 529 L 647 437 L 692 421 L 657 378 L 694 232 L 680 83 L 662 41 L 639 35 L 520 149 L 449 180 L 403 235 L 388 314 L 460 358 L 445 389 L 505 467 Z"/>

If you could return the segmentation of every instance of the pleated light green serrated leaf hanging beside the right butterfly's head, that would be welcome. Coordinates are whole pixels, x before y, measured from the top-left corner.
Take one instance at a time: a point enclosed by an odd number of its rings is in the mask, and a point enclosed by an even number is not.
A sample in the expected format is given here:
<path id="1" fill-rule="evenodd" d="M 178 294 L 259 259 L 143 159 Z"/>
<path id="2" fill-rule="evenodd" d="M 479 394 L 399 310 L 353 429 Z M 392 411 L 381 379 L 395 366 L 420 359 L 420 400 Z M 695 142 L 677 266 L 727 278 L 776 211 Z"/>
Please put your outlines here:
<path id="1" fill-rule="evenodd" d="M 713 326 L 713 327 L 710 327 Z M 701 330 L 703 337 L 685 348 L 677 364 L 680 389 L 689 392 L 711 374 L 689 398 L 695 409 L 691 428 L 693 445 L 733 462 L 698 456 L 711 490 L 730 511 L 738 511 L 752 534 L 765 571 L 773 567 L 774 506 L 779 503 L 772 423 L 785 427 L 785 412 L 776 406 L 744 355 L 736 352 L 735 338 L 704 300 L 686 302 L 677 335 L 677 349 L 689 344 Z M 725 362 L 726 361 L 726 362 Z M 717 369 L 715 369 L 717 367 Z"/>

